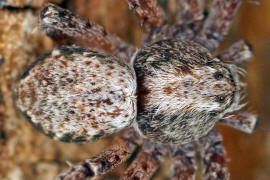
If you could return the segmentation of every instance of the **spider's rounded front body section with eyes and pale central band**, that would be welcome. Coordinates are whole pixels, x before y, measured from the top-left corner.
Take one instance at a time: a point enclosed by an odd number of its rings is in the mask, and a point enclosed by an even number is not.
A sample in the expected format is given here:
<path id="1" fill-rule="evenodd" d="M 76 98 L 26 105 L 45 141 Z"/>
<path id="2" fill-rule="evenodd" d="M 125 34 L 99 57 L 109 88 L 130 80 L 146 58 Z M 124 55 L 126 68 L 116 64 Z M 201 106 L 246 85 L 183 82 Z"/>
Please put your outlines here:
<path id="1" fill-rule="evenodd" d="M 137 53 L 134 68 L 136 122 L 152 141 L 197 140 L 232 104 L 235 86 L 229 68 L 192 41 L 168 39 L 146 45 Z"/>

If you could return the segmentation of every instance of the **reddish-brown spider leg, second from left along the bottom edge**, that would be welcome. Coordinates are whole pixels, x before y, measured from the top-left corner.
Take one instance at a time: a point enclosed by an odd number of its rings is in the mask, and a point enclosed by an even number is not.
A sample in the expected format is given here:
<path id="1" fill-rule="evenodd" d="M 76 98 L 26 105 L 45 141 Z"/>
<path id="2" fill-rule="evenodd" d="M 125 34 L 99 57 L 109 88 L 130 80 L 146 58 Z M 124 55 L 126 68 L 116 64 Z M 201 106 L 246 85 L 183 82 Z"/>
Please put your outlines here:
<path id="1" fill-rule="evenodd" d="M 136 179 L 148 180 L 158 169 L 162 156 L 166 154 L 166 149 L 163 145 L 154 144 L 152 142 L 144 142 L 141 151 L 136 159 L 124 172 L 122 180 Z"/>

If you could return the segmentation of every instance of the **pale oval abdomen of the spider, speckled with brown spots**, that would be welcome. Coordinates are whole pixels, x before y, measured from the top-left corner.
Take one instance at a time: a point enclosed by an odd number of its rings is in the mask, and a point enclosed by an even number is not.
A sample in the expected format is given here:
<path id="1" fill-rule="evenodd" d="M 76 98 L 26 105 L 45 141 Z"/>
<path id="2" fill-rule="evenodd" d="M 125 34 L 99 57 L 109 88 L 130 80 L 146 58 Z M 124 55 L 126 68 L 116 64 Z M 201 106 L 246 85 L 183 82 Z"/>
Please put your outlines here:
<path id="1" fill-rule="evenodd" d="M 15 90 L 31 123 L 62 141 L 93 141 L 136 117 L 133 70 L 116 57 L 76 46 L 37 59 Z"/>

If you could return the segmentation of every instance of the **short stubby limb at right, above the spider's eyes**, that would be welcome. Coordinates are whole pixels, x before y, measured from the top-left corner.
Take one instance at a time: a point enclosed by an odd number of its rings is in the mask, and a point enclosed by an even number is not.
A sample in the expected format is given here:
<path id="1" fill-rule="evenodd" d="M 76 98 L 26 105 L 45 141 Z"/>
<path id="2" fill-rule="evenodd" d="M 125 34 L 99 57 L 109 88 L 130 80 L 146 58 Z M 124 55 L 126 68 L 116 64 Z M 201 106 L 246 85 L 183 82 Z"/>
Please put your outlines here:
<path id="1" fill-rule="evenodd" d="M 252 55 L 251 45 L 246 41 L 240 40 L 218 54 L 217 58 L 227 63 L 243 64 L 246 60 L 251 58 Z"/>

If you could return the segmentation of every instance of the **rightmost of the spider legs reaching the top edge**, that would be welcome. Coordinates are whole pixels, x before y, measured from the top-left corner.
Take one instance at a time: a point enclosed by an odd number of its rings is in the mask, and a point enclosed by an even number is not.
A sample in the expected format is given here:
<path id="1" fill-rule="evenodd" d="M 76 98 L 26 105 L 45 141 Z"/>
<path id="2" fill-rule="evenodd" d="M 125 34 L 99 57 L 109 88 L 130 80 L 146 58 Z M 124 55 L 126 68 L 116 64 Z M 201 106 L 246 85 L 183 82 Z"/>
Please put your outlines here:
<path id="1" fill-rule="evenodd" d="M 227 35 L 241 2 L 241 0 L 214 0 L 196 41 L 210 51 L 215 51 Z"/>

